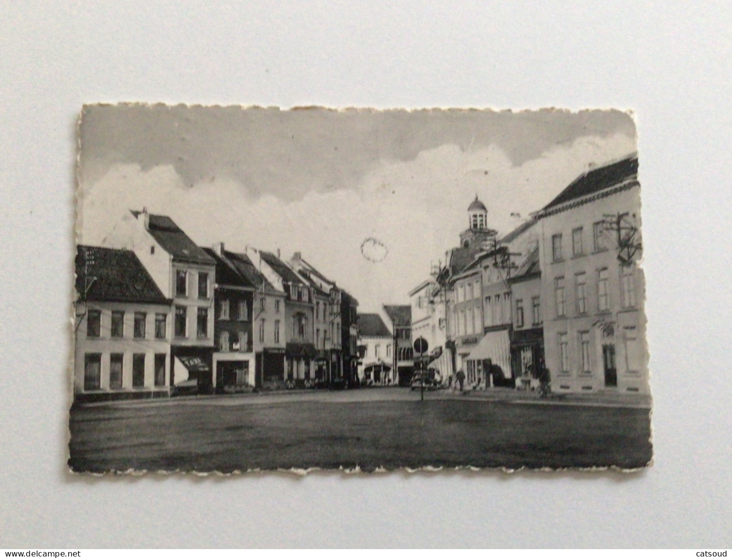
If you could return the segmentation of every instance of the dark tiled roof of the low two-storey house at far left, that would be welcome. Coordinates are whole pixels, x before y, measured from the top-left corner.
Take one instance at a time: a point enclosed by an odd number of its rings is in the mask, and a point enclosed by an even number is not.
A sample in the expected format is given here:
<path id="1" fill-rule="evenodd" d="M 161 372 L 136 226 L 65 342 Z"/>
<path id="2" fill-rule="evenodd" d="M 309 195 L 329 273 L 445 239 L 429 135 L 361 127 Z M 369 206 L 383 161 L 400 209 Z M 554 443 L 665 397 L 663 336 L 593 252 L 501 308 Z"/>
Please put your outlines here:
<path id="1" fill-rule="evenodd" d="M 76 247 L 76 291 L 86 300 L 171 302 L 132 250 L 98 246 Z"/>

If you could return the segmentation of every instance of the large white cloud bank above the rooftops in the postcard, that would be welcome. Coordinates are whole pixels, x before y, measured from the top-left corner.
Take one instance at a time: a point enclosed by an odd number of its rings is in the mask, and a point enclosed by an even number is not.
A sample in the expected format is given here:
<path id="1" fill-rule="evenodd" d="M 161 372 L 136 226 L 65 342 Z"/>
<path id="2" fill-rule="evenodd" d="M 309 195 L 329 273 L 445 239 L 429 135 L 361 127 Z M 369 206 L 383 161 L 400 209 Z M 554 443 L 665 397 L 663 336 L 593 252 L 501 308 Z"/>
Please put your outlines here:
<path id="1" fill-rule="evenodd" d="M 466 208 L 477 194 L 490 226 L 501 233 L 547 204 L 588 165 L 635 150 L 627 135 L 586 136 L 514 166 L 496 146 L 468 152 L 454 145 L 421 152 L 408 162 L 373 166 L 355 189 L 310 193 L 285 202 L 274 195 L 252 201 L 237 182 L 214 178 L 187 187 L 171 166 L 141 171 L 113 165 L 94 184 L 81 185 L 79 242 L 98 244 L 127 209 L 147 207 L 170 215 L 195 242 L 223 241 L 294 251 L 351 291 L 362 310 L 407 302 L 427 277 L 430 262 L 444 261 L 467 225 Z M 388 250 L 373 262 L 361 253 L 367 238 Z"/>

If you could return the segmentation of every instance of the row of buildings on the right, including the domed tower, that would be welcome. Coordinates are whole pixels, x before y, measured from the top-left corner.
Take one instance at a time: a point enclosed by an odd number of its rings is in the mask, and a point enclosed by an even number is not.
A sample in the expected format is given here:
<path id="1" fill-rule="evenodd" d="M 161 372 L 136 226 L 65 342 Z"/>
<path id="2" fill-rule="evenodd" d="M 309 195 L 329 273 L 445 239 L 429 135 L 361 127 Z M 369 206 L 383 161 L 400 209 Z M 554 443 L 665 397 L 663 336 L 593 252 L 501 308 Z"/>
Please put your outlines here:
<path id="1" fill-rule="evenodd" d="M 648 390 L 635 155 L 579 176 L 499 238 L 476 197 L 447 263 L 411 295 L 429 366 L 474 389 Z"/>

